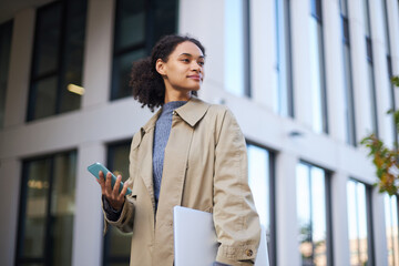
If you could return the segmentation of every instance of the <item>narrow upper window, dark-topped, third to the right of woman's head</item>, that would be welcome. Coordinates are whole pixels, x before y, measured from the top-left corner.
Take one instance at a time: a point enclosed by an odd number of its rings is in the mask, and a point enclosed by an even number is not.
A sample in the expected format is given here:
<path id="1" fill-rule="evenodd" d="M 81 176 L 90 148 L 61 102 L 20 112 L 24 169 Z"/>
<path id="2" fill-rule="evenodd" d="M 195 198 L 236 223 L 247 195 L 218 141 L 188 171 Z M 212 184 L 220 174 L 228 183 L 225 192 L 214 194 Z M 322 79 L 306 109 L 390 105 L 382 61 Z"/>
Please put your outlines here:
<path id="1" fill-rule="evenodd" d="M 310 16 L 310 86 L 313 95 L 313 129 L 328 133 L 327 100 L 324 63 L 324 43 L 321 24 L 321 2 L 311 0 Z"/>

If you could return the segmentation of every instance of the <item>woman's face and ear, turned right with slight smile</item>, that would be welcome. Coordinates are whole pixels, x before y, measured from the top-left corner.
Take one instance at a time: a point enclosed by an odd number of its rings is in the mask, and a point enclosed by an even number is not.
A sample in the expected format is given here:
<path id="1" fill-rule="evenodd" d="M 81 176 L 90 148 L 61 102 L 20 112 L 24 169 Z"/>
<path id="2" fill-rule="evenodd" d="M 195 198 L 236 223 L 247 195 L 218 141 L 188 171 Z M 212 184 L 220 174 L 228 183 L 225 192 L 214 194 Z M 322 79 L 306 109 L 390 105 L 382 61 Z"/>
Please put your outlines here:
<path id="1" fill-rule="evenodd" d="M 176 45 L 167 62 L 158 59 L 156 70 L 163 75 L 166 90 L 183 93 L 197 91 L 204 80 L 205 58 L 201 49 L 191 41 Z"/>

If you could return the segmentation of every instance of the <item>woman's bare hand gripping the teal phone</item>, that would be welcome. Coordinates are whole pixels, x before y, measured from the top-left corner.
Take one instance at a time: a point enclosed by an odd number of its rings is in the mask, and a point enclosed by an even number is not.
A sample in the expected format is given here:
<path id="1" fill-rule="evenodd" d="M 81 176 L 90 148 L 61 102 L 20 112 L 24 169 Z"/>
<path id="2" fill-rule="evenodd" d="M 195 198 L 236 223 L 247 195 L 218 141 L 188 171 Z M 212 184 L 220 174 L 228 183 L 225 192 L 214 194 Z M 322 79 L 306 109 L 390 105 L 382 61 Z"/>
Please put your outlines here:
<path id="1" fill-rule="evenodd" d="M 127 191 L 129 182 L 123 184 L 123 188 L 121 193 L 119 193 L 119 188 L 121 186 L 122 176 L 117 175 L 114 187 L 111 186 L 111 173 L 109 172 L 104 178 L 104 174 L 102 171 L 99 172 L 99 184 L 101 186 L 101 194 L 106 198 L 110 205 L 115 209 L 120 211 L 125 201 L 125 194 Z"/>

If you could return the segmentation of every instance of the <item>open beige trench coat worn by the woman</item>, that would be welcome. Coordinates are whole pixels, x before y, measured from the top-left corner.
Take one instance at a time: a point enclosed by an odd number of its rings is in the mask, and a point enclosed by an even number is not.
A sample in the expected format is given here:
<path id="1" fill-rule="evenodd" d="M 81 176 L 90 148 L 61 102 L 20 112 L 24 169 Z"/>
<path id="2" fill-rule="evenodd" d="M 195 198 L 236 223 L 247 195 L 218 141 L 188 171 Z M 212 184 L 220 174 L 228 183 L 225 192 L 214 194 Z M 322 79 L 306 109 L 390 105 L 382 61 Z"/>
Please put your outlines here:
<path id="1" fill-rule="evenodd" d="M 260 226 L 247 183 L 245 140 L 234 115 L 196 98 L 173 112 L 155 217 L 152 151 L 160 114 L 161 110 L 133 137 L 133 193 L 126 196 L 121 217 L 111 222 L 104 216 L 108 224 L 133 232 L 130 265 L 173 265 L 175 205 L 213 213 L 221 243 L 216 260 L 252 265 Z"/>

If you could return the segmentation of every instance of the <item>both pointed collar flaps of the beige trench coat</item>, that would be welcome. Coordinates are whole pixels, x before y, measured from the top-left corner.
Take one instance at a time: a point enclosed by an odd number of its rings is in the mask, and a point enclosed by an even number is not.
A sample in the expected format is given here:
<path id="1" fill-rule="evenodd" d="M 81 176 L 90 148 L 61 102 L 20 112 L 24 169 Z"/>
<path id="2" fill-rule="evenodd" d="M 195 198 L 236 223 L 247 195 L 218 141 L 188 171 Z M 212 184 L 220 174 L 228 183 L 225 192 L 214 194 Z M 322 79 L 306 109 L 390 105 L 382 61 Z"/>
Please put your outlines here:
<path id="1" fill-rule="evenodd" d="M 192 127 L 205 115 L 209 104 L 200 100 L 196 96 L 192 96 L 186 104 L 175 110 L 178 116 L 182 117 Z M 162 113 L 162 108 L 149 120 L 149 122 L 142 127 L 147 133 L 155 126 L 156 120 Z"/>

